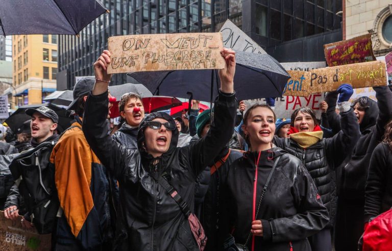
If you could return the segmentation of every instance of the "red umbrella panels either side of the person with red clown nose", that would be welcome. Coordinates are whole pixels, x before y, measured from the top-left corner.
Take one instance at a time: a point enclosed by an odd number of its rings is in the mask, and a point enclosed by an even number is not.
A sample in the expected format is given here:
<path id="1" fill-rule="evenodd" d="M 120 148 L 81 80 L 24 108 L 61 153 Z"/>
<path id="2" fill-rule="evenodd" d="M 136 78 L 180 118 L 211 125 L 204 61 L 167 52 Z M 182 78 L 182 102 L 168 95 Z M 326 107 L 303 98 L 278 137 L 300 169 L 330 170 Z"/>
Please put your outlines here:
<path id="1" fill-rule="evenodd" d="M 182 105 L 181 101 L 178 98 L 166 96 L 143 97 L 142 102 L 144 105 L 145 113 L 163 111 L 172 107 L 178 107 Z M 118 111 L 118 103 L 119 101 L 116 101 L 115 103 L 113 103 L 112 108 L 110 108 L 111 118 L 116 118 L 120 116 L 120 113 Z"/>

